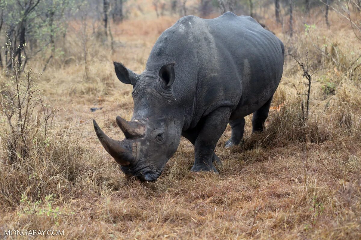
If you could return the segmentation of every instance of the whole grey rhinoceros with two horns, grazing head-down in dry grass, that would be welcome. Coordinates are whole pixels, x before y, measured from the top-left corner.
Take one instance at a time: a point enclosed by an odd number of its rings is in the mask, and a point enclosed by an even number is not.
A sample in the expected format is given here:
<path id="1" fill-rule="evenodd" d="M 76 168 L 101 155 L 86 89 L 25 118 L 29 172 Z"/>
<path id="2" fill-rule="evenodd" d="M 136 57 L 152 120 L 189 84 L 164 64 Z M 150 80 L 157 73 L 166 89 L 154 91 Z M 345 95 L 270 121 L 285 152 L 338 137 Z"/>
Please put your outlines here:
<path id="1" fill-rule="evenodd" d="M 156 41 L 141 74 L 114 62 L 118 79 L 133 86 L 131 121 L 116 117 L 125 135 L 109 138 L 93 121 L 105 150 L 126 175 L 155 181 L 181 136 L 194 145 L 191 171 L 217 172 L 214 148 L 227 127 L 226 147 L 243 138 L 244 117 L 263 131 L 283 72 L 283 43 L 249 16 L 186 16 Z"/>

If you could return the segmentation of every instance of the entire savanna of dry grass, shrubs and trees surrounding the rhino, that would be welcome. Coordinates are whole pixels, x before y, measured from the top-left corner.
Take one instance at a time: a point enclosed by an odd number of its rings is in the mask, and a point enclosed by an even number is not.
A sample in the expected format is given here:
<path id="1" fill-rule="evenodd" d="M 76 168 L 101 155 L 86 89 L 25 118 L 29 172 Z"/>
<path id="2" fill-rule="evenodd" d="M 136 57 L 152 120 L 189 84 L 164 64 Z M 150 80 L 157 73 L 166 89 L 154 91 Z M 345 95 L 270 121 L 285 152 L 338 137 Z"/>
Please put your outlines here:
<path id="1" fill-rule="evenodd" d="M 1 0 L 0 230 L 39 239 L 360 239 L 359 0 Z M 285 45 L 266 131 L 191 173 L 183 139 L 156 182 L 125 178 L 92 119 L 122 139 L 157 37 L 184 15 L 252 15 Z M 240 46 L 242 47 L 242 46 Z M 91 108 L 93 108 L 91 111 Z M 6 236 L 6 239 L 30 236 Z"/>

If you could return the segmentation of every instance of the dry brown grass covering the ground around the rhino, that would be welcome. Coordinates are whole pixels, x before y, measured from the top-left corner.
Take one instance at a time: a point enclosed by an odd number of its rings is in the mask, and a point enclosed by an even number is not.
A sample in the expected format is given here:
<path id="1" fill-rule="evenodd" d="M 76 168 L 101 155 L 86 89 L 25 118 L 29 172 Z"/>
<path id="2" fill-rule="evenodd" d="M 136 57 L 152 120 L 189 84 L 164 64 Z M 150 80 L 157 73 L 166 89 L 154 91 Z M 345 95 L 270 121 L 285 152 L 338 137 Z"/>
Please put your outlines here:
<path id="1" fill-rule="evenodd" d="M 1 236 L 55 229 L 64 236 L 37 239 L 361 239 L 361 69 L 351 66 L 361 42 L 348 23 L 331 12 L 327 29 L 314 13 L 306 31 L 308 20 L 296 16 L 290 38 L 287 24 L 266 18 L 286 47 L 266 131 L 251 135 L 248 116 L 244 144 L 226 149 L 228 126 L 216 148 L 223 162 L 217 175 L 190 172 L 193 146 L 182 138 L 158 181 L 139 182 L 125 178 L 103 149 L 92 119 L 123 138 L 115 117 L 131 118 L 132 89 L 117 80 L 112 61 L 142 72 L 157 37 L 178 19 L 147 18 L 112 25 L 114 53 L 87 36 L 86 70 L 75 34 L 81 24 L 73 23 L 68 51 L 38 80 L 45 102 L 59 111 L 29 158 L 8 163 L 1 128 Z M 312 76 L 304 124 L 306 79 L 292 55 L 302 60 L 307 52 L 315 71 L 325 69 Z M 35 60 L 29 65 L 42 71 Z"/>

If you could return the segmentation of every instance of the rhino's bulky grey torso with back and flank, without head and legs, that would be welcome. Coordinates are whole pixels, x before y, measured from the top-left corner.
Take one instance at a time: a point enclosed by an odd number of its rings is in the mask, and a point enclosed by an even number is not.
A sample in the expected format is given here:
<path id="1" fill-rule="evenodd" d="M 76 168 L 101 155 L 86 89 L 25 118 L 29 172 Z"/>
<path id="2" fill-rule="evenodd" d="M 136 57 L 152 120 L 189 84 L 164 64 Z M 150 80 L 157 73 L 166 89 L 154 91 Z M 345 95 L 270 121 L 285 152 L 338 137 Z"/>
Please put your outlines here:
<path id="1" fill-rule="evenodd" d="M 176 63 L 174 95 L 194 127 L 221 106 L 244 116 L 260 108 L 282 76 L 282 47 L 251 17 L 230 12 L 214 19 L 186 16 L 158 38 L 146 71 Z"/>

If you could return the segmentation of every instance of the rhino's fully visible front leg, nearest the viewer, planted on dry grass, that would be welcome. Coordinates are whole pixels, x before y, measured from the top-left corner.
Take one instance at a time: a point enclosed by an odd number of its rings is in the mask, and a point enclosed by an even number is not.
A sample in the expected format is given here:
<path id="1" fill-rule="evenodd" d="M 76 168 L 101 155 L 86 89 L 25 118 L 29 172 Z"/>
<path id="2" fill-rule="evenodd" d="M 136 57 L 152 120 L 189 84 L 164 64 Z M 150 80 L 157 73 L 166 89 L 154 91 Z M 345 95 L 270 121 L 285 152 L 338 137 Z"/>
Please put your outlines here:
<path id="1" fill-rule="evenodd" d="M 204 121 L 198 137 L 194 144 L 194 165 L 192 172 L 214 171 L 217 172 L 212 160 L 214 149 L 219 138 L 227 127 L 228 119 L 231 115 L 229 107 L 221 107 L 214 110 Z M 215 159 L 216 160 L 216 159 Z"/>

